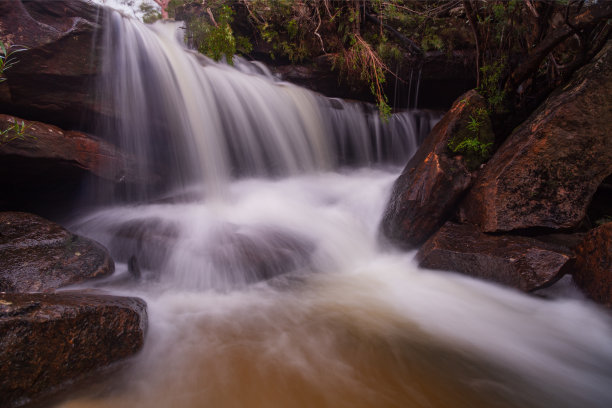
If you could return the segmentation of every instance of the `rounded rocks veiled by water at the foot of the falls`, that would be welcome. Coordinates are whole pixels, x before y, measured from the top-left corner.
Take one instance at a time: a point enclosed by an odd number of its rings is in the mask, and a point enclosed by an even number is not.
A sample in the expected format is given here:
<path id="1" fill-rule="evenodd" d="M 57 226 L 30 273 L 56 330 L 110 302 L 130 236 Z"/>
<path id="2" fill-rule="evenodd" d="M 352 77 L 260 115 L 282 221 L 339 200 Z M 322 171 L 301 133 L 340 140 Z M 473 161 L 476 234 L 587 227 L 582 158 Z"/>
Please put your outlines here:
<path id="1" fill-rule="evenodd" d="M 187 262 L 181 264 L 183 268 L 210 272 L 218 277 L 215 281 L 220 282 L 220 289 L 308 268 L 315 249 L 307 238 L 278 228 L 228 224 L 193 236 L 179 225 L 155 217 L 114 226 L 110 234 L 111 253 L 117 261 L 128 263 L 132 276 L 146 278 L 147 271 L 163 275 L 173 269 L 173 256 L 176 259 L 176 254 L 182 254 Z"/>

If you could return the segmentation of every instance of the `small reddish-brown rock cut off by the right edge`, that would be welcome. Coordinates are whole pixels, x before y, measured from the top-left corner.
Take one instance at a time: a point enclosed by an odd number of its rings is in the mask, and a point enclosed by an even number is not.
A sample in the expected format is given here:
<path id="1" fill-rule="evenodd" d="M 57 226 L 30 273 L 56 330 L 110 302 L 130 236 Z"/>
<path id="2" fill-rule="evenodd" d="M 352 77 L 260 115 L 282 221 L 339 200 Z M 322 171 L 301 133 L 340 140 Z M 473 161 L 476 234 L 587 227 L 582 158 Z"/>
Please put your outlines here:
<path id="1" fill-rule="evenodd" d="M 590 298 L 612 307 L 612 223 L 587 234 L 576 250 L 573 275 Z"/>

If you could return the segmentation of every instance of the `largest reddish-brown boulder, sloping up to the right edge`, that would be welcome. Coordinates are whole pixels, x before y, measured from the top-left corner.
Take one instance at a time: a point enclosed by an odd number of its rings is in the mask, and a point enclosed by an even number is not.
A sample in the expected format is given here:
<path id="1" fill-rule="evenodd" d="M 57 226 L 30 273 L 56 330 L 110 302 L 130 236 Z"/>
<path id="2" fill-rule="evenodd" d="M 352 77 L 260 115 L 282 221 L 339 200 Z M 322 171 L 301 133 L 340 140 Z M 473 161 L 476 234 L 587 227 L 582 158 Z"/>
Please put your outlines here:
<path id="1" fill-rule="evenodd" d="M 483 231 L 572 228 L 612 173 L 612 41 L 519 126 L 461 206 Z"/>

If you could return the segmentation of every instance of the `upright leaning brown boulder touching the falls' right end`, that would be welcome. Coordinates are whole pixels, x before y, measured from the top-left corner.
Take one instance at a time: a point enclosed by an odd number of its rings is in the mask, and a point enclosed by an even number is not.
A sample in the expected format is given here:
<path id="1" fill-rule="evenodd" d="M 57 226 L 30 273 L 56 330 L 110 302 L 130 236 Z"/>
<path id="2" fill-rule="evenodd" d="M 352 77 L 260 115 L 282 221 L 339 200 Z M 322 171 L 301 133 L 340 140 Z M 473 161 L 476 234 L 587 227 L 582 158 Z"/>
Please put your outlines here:
<path id="1" fill-rule="evenodd" d="M 448 219 L 472 182 L 464 160 L 452 157 L 448 144 L 465 129 L 473 112 L 484 107 L 476 91 L 459 97 L 410 159 L 393 186 L 381 224 L 392 242 L 420 245 Z"/>

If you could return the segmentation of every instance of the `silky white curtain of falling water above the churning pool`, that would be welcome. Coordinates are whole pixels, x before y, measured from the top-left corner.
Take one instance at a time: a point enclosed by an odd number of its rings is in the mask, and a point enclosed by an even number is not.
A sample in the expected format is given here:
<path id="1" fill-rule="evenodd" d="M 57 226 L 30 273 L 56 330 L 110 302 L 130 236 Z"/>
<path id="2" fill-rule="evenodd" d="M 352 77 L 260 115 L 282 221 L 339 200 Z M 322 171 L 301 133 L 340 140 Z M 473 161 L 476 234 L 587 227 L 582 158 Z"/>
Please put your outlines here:
<path id="1" fill-rule="evenodd" d="M 107 14 L 98 95 L 115 114 L 99 133 L 138 158 L 138 179 L 166 188 L 203 182 L 218 193 L 237 176 L 400 164 L 437 120 L 403 112 L 381 121 L 366 105 L 281 82 L 261 65 L 186 52 L 180 23 Z M 146 193 L 137 186 L 132 196 Z"/>

